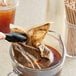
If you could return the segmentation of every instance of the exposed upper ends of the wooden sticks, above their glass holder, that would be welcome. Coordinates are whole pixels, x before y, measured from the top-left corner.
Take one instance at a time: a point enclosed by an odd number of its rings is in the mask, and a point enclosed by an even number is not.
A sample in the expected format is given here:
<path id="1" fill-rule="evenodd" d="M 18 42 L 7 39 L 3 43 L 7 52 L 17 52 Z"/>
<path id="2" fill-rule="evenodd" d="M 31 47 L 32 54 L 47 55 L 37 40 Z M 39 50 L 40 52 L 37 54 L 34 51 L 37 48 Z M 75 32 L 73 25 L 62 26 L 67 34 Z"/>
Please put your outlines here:
<path id="1" fill-rule="evenodd" d="M 66 9 L 66 16 L 67 21 L 72 24 L 76 24 L 76 2 L 73 0 L 65 1 L 65 9 Z"/>

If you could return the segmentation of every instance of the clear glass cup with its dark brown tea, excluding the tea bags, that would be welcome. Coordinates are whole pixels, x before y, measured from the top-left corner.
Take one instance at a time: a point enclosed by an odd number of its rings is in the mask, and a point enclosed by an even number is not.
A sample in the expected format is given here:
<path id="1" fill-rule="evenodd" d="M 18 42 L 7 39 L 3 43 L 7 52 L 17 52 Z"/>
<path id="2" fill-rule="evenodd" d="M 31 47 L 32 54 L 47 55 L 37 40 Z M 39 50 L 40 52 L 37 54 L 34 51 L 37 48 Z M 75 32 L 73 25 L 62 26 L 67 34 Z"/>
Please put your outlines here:
<path id="1" fill-rule="evenodd" d="M 14 50 L 11 45 L 10 56 L 12 59 L 13 72 L 10 73 L 9 76 L 59 76 L 65 60 L 65 49 L 62 38 L 56 32 L 49 31 L 43 43 L 53 54 L 53 62 L 49 66 L 47 66 L 47 61 L 43 60 L 42 62 L 41 60 L 37 60 L 38 64 L 45 64 L 43 68 L 42 66 L 41 68 L 31 67 L 32 65 L 27 64 L 20 53 Z M 51 58 L 52 57 L 50 57 L 50 59 Z"/>

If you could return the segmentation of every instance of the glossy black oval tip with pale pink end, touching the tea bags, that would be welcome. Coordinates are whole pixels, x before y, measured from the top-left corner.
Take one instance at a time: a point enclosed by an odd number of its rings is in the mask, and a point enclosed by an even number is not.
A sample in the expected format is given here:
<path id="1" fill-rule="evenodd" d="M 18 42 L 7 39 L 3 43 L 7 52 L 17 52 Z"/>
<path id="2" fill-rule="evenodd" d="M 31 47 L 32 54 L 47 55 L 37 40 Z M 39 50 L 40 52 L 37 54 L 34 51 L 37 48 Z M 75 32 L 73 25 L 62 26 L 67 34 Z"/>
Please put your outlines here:
<path id="1" fill-rule="evenodd" d="M 27 40 L 27 36 L 19 32 L 11 32 L 8 34 L 4 34 L 0 32 L 0 40 L 3 40 L 3 39 L 9 42 L 24 42 Z"/>

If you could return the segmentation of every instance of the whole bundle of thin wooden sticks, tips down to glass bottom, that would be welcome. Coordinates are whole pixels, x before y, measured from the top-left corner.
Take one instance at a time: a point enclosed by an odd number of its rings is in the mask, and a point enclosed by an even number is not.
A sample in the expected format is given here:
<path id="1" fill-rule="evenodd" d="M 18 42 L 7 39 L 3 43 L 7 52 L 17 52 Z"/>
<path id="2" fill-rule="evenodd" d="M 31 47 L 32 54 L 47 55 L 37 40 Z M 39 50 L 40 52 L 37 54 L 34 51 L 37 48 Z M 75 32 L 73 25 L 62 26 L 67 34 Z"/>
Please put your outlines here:
<path id="1" fill-rule="evenodd" d="M 65 0 L 67 41 L 69 55 L 76 56 L 76 0 Z"/>

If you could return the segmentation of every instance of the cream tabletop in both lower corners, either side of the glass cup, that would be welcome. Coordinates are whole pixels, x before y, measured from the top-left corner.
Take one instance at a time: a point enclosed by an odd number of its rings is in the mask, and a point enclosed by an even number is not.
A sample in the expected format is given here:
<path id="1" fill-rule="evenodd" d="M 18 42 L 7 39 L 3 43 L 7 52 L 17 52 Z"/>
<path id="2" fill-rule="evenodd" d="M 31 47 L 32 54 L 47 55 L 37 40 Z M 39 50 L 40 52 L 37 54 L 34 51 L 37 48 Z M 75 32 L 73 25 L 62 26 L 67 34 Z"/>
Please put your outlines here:
<path id="1" fill-rule="evenodd" d="M 9 72 L 12 72 L 9 46 L 9 42 L 0 41 L 0 76 L 7 76 Z M 76 59 L 66 58 L 60 76 L 76 76 L 75 66 Z"/>

